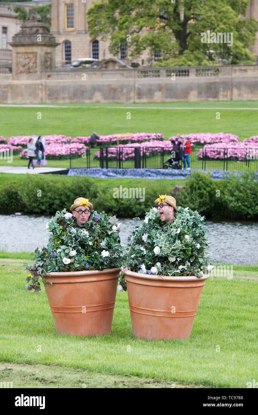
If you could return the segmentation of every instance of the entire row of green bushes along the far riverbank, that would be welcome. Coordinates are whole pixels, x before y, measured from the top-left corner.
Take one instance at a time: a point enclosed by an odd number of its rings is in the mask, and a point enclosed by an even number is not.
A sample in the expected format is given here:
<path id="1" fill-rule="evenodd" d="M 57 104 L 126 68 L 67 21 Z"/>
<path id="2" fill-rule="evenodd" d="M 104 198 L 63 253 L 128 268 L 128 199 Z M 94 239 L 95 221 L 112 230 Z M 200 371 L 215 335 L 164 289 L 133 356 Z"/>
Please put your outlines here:
<path id="1" fill-rule="evenodd" d="M 212 180 L 209 174 L 192 173 L 184 181 L 185 188 L 176 195 L 176 204 L 196 209 L 207 218 L 258 220 L 258 182 L 254 173 L 244 173 L 241 180 L 231 175 L 229 180 Z M 125 183 L 105 179 L 96 183 L 89 177 L 26 175 L 22 181 L 5 182 L 0 186 L 0 213 L 50 213 L 64 207 L 69 210 L 79 196 L 89 198 L 97 211 L 118 217 L 143 216 L 159 194 L 169 195 L 174 185 L 169 180 L 130 181 L 123 187 L 145 187 L 145 200 L 113 198 L 113 188 Z M 161 188 L 162 186 L 162 188 Z"/>

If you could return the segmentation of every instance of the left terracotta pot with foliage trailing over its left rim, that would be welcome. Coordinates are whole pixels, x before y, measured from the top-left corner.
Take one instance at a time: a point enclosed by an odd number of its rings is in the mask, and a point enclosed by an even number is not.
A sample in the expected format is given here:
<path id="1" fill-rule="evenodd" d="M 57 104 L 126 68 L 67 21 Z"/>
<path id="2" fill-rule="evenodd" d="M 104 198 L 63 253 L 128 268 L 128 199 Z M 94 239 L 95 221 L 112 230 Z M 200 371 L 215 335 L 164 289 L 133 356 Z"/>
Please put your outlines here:
<path id="1" fill-rule="evenodd" d="M 56 331 L 79 336 L 109 334 L 119 271 L 49 272 L 53 285 L 47 284 L 46 294 Z"/>

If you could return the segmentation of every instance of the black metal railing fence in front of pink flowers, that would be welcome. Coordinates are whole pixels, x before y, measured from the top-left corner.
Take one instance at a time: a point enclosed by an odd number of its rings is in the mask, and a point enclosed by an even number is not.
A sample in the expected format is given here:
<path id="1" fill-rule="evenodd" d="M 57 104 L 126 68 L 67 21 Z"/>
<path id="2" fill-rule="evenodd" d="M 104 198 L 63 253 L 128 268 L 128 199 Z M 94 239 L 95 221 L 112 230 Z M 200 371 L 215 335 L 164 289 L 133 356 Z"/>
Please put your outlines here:
<path id="1" fill-rule="evenodd" d="M 194 146 L 189 161 L 191 169 L 258 171 L 258 148 L 251 151 Z M 101 146 L 83 151 L 79 157 L 70 153 L 70 168 L 184 168 L 184 165 L 181 152 L 174 151 L 172 146 Z"/>

